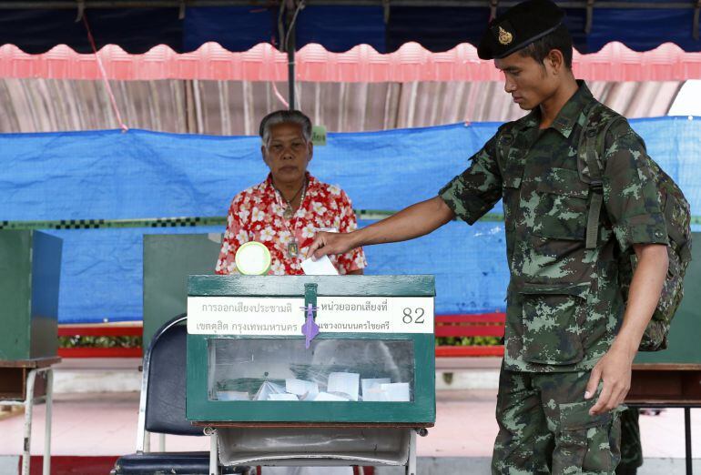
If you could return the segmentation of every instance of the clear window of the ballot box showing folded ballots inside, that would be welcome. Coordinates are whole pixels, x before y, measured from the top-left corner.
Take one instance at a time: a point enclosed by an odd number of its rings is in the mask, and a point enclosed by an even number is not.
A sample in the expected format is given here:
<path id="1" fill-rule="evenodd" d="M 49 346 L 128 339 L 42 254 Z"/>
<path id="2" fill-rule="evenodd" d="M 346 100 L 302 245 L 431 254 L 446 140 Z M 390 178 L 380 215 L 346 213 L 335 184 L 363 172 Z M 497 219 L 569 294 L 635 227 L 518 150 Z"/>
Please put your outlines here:
<path id="1" fill-rule="evenodd" d="M 210 401 L 412 402 L 413 339 L 208 339 Z"/>

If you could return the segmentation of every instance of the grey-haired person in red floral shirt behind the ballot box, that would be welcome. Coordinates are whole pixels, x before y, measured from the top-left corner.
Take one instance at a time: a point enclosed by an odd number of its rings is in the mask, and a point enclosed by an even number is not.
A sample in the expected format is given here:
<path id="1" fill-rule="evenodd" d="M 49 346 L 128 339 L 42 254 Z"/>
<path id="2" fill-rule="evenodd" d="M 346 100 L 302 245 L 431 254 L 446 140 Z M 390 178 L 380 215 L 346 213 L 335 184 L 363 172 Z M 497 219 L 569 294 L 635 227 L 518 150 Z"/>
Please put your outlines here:
<path id="1" fill-rule="evenodd" d="M 260 152 L 270 172 L 231 202 L 216 271 L 236 273 L 237 249 L 259 241 L 270 251 L 270 274 L 301 275 L 300 264 L 317 231 L 347 233 L 358 226 L 351 199 L 340 187 L 307 171 L 314 151 L 309 117 L 279 110 L 263 118 L 259 133 Z M 330 259 L 339 274 L 362 274 L 367 265 L 361 248 Z"/>

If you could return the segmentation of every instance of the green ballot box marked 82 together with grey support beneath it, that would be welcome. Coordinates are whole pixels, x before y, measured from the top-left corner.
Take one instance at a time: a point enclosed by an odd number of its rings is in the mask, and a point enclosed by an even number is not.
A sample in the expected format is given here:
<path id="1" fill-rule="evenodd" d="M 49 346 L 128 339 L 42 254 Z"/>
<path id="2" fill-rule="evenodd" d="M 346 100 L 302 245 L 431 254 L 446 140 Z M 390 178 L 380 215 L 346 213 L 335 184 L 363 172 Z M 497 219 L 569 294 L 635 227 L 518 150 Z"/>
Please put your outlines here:
<path id="1" fill-rule="evenodd" d="M 225 464 L 404 465 L 435 421 L 434 295 L 432 276 L 190 276 L 187 417 Z"/>

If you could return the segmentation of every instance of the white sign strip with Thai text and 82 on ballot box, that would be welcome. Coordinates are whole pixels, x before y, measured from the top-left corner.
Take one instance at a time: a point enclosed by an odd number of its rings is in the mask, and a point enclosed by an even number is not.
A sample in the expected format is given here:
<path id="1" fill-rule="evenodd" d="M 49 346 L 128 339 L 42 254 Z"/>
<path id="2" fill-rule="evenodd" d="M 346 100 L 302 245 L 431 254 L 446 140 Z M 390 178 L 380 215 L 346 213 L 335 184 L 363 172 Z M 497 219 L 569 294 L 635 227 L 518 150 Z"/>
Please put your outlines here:
<path id="1" fill-rule="evenodd" d="M 304 298 L 188 297 L 188 333 L 300 336 Z M 431 297 L 319 297 L 320 332 L 433 333 Z"/>

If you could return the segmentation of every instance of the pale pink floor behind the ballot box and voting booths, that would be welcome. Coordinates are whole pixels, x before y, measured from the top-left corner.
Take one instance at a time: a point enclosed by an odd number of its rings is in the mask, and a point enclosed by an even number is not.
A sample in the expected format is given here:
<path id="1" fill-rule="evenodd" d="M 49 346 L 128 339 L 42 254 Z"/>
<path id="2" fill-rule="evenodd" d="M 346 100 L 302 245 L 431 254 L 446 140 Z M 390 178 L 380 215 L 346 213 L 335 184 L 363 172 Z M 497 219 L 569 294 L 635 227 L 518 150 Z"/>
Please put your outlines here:
<path id="1" fill-rule="evenodd" d="M 490 457 L 497 433 L 494 421 L 496 391 L 475 389 L 439 391 L 436 426 L 420 438 L 421 457 Z M 68 393 L 54 399 L 52 454 L 121 455 L 132 452 L 137 435 L 137 392 Z M 44 447 L 45 406 L 35 410 L 32 454 Z M 22 416 L 0 420 L 0 455 L 22 451 Z M 659 416 L 640 419 L 645 457 L 685 456 L 684 413 L 665 409 Z M 701 409 L 692 409 L 692 430 L 696 434 L 693 453 L 701 456 Z M 157 437 L 152 436 L 153 447 Z M 208 450 L 208 440 L 198 437 L 167 437 L 168 450 Z"/>

